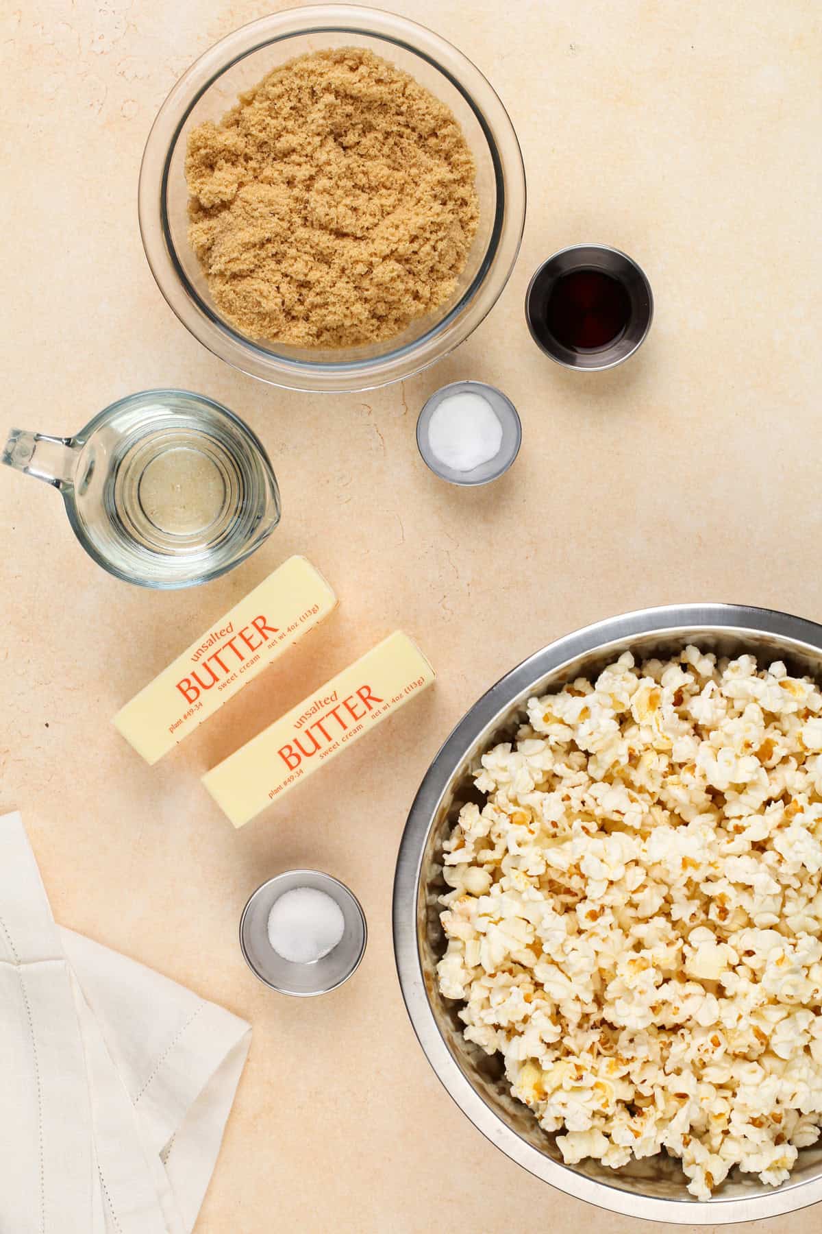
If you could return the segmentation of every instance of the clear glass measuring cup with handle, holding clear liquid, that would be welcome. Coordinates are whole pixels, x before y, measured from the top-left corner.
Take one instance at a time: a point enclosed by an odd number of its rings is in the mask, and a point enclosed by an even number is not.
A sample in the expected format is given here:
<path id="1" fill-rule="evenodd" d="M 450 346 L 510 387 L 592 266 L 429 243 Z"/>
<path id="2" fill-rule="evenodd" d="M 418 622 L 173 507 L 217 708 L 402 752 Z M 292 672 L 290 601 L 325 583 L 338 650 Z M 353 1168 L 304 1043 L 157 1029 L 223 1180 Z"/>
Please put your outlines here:
<path id="1" fill-rule="evenodd" d="M 280 522 L 277 481 L 256 436 L 186 390 L 128 395 L 74 437 L 14 428 L 0 463 L 58 489 L 86 553 L 143 587 L 208 582 Z"/>

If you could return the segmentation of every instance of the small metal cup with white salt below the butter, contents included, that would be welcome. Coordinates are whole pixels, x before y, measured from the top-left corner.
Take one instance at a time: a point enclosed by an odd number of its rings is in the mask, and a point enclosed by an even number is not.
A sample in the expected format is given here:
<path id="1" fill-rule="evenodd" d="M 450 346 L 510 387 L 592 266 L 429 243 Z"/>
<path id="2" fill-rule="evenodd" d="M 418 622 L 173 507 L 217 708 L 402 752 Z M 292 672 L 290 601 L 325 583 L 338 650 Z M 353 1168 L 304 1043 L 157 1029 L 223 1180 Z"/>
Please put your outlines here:
<path id="1" fill-rule="evenodd" d="M 286 870 L 258 887 L 240 919 L 251 972 L 281 995 L 336 990 L 357 969 L 367 928 L 360 901 L 322 870 Z"/>

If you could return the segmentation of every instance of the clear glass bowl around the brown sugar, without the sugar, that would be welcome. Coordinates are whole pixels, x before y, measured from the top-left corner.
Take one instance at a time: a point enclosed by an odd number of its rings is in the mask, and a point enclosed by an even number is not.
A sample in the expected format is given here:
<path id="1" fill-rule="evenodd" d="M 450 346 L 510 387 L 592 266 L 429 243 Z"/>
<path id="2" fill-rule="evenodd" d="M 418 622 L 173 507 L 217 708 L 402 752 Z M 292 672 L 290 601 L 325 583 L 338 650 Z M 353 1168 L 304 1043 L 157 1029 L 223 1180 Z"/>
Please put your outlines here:
<path id="1" fill-rule="evenodd" d="M 255 341 L 217 311 L 187 239 L 184 164 L 189 132 L 219 120 L 238 95 L 279 64 L 335 47 L 365 47 L 447 104 L 477 163 L 479 226 L 450 299 L 402 334 L 344 349 L 303 349 Z M 184 73 L 149 133 L 139 178 L 139 225 L 160 291 L 214 355 L 293 390 L 368 390 L 434 364 L 476 329 L 500 295 L 525 222 L 525 170 L 508 112 L 482 73 L 445 39 L 377 9 L 318 5 L 274 14 L 216 43 Z"/>

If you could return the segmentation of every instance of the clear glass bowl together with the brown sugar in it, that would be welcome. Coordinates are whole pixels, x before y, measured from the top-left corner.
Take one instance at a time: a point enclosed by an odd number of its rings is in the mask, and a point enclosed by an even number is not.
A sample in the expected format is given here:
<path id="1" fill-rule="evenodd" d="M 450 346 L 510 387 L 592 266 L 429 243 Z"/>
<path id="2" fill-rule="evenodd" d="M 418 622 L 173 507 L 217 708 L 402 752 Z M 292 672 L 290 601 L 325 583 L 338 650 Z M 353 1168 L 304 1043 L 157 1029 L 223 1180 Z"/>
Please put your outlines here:
<path id="1" fill-rule="evenodd" d="M 376 9 L 255 21 L 180 78 L 145 146 L 139 222 L 210 350 L 296 390 L 366 390 L 454 350 L 499 297 L 525 173 L 497 94 Z"/>

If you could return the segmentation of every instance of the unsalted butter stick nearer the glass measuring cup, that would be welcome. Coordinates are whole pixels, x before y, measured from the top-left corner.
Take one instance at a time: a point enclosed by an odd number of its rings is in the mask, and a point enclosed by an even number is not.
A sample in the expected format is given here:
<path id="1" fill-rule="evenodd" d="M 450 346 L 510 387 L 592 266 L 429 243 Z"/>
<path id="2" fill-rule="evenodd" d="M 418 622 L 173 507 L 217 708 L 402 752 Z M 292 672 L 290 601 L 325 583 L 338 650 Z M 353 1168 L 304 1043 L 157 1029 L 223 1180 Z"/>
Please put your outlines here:
<path id="1" fill-rule="evenodd" d="M 127 702 L 115 726 L 147 763 L 157 763 L 336 603 L 311 561 L 288 558 Z"/>

